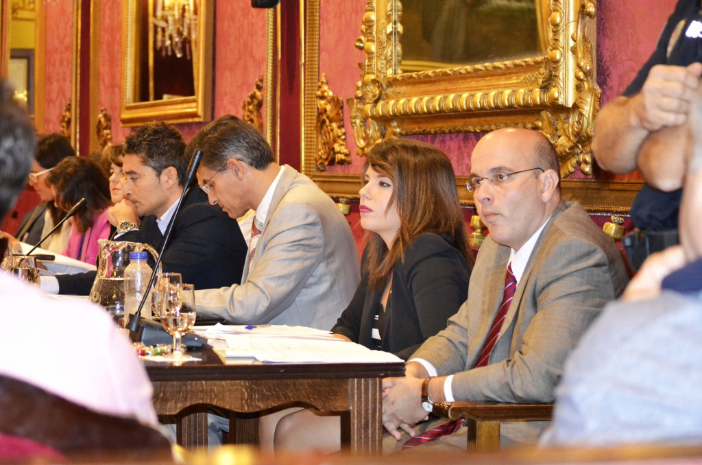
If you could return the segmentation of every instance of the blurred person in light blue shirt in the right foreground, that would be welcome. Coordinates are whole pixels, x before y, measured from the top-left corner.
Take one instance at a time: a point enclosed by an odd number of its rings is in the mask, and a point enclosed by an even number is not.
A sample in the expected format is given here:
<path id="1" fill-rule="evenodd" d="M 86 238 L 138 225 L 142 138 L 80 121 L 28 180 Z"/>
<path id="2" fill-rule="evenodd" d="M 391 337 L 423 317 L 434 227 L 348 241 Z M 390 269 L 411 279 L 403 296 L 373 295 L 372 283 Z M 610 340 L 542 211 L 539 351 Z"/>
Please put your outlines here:
<path id="1" fill-rule="evenodd" d="M 702 442 L 702 96 L 691 144 L 680 245 L 651 255 L 566 364 L 543 445 Z"/>

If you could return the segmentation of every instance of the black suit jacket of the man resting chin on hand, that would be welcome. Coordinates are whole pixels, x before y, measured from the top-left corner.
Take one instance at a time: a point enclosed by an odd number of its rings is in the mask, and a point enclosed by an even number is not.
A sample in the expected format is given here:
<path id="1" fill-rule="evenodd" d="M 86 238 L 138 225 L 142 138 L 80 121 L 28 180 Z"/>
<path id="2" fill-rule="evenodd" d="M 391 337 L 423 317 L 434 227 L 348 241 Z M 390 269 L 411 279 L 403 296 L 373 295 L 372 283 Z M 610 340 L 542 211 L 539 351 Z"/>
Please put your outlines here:
<path id="1" fill-rule="evenodd" d="M 150 244 L 157 250 L 163 239 L 156 216 L 146 216 L 138 230 L 117 238 Z M 182 274 L 183 282 L 194 284 L 195 289 L 228 287 L 241 282 L 246 249 L 237 221 L 208 204 L 205 193 L 194 188 L 183 201 L 161 266 L 164 271 Z M 154 266 L 151 258 L 149 264 Z M 88 295 L 95 275 L 91 271 L 57 276 L 59 294 Z"/>

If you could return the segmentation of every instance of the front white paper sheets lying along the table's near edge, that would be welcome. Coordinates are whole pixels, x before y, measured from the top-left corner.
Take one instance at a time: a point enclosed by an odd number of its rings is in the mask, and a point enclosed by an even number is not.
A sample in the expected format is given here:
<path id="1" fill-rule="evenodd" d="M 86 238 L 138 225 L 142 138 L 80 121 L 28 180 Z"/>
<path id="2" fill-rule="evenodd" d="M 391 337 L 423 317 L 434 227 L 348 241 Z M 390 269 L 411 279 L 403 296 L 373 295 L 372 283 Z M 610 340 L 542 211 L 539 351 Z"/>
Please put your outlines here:
<path id="1" fill-rule="evenodd" d="M 371 351 L 357 343 L 289 337 L 224 336 L 226 348 L 213 349 L 226 362 L 256 360 L 264 363 L 390 363 L 402 359 Z"/>

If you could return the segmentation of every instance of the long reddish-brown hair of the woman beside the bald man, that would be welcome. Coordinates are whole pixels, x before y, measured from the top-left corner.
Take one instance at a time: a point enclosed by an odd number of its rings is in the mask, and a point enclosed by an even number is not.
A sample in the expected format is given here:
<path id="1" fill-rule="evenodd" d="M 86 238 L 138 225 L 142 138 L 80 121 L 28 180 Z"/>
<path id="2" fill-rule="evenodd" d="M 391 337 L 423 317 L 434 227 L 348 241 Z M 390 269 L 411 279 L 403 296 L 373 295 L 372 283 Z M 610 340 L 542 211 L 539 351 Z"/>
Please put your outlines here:
<path id="1" fill-rule="evenodd" d="M 390 178 L 392 196 L 388 210 L 397 204 L 400 227 L 388 250 L 375 232 L 366 231 L 369 287 L 380 289 L 404 251 L 423 232 L 449 236 L 472 267 L 474 258 L 468 247 L 461 203 L 456 190 L 456 175 L 446 154 L 427 143 L 406 138 L 383 140 L 373 146 L 363 166 Z M 387 211 L 386 211 L 387 212 Z"/>

